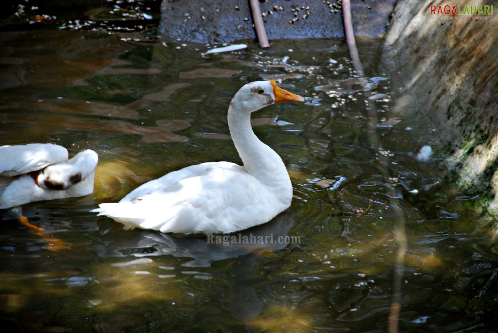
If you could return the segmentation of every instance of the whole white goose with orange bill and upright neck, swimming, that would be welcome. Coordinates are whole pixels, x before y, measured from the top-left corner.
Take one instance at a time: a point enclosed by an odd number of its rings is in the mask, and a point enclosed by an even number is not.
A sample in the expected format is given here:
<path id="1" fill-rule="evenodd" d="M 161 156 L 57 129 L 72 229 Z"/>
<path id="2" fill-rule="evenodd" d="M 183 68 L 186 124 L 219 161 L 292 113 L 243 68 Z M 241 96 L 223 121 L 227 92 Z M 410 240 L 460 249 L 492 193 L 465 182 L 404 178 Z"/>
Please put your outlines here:
<path id="1" fill-rule="evenodd" d="M 255 136 L 250 114 L 273 103 L 304 101 L 274 81 L 244 85 L 228 109 L 243 166 L 208 162 L 170 172 L 117 203 L 94 209 L 124 224 L 163 233 L 231 233 L 266 223 L 290 206 L 292 185 L 282 159 Z"/>

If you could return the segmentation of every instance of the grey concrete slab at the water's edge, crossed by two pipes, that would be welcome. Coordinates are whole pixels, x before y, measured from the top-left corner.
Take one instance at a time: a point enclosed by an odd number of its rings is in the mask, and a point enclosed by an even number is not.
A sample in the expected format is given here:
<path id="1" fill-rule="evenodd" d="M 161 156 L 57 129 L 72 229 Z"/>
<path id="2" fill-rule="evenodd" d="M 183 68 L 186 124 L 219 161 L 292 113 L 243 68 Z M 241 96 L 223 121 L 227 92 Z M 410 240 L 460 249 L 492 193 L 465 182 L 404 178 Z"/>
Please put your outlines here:
<path id="1" fill-rule="evenodd" d="M 382 37 L 395 0 L 352 0 L 357 36 Z M 268 39 L 344 37 L 341 1 L 259 1 Z M 197 43 L 256 39 L 248 0 L 163 0 L 160 32 Z"/>

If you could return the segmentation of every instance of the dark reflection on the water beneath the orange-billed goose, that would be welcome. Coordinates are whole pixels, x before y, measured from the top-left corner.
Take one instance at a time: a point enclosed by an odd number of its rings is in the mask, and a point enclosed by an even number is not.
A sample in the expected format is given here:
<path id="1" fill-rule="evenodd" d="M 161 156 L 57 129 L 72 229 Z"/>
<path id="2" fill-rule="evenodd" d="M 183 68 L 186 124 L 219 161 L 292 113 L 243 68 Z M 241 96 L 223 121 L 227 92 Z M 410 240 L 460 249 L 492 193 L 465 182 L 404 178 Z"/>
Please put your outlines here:
<path id="1" fill-rule="evenodd" d="M 229 303 L 234 316 L 243 320 L 256 317 L 262 308 L 252 280 L 257 258 L 299 242 L 298 237 L 288 235 L 293 225 L 293 213 L 287 209 L 268 223 L 226 235 L 184 236 L 135 229 L 119 242 L 111 236 L 98 252 L 104 257 L 129 256 L 131 251 L 138 257 L 167 254 L 191 258 L 181 264 L 184 267 L 209 267 L 214 261 L 237 258 Z"/>

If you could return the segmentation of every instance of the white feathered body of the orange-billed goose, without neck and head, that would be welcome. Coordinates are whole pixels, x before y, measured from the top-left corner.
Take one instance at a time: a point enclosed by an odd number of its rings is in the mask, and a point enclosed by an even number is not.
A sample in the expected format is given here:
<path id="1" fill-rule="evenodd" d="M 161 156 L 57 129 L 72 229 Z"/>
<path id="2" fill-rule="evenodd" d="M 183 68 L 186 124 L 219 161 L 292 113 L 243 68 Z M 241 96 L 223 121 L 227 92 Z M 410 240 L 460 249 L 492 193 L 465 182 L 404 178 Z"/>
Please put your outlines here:
<path id="1" fill-rule="evenodd" d="M 170 172 L 118 203 L 99 207 L 94 210 L 99 215 L 126 227 L 163 233 L 230 233 L 265 223 L 287 208 L 243 167 L 229 162 Z"/>

